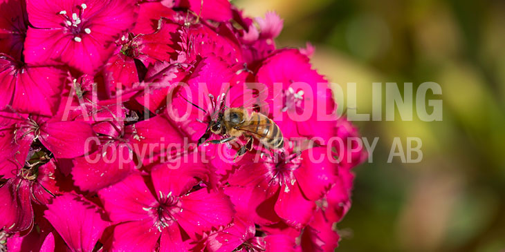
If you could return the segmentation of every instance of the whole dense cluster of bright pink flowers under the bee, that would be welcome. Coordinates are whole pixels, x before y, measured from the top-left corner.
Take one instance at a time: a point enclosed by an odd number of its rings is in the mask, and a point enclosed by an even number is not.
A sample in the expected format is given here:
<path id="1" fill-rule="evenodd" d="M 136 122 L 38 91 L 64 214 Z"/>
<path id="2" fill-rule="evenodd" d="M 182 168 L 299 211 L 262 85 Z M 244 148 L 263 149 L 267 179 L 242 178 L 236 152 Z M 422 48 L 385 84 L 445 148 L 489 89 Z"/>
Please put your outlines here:
<path id="1" fill-rule="evenodd" d="M 0 250 L 337 246 L 366 154 L 346 141 L 358 133 L 334 115 L 312 49 L 275 48 L 277 14 L 250 19 L 228 0 L 0 0 L 0 17 Z M 209 144 L 230 107 L 268 111 L 284 148 Z"/>

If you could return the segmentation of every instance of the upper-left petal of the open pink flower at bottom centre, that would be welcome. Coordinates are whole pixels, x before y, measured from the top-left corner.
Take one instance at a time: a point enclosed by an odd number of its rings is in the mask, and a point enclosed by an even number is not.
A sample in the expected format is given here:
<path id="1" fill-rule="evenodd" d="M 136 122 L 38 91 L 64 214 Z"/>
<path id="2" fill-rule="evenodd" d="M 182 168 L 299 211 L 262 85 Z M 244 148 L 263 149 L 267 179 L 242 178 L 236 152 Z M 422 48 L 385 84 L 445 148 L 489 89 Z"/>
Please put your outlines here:
<path id="1" fill-rule="evenodd" d="M 143 220 L 149 217 L 145 210 L 156 204 L 156 199 L 138 174 L 98 192 L 104 208 L 113 222 Z"/>

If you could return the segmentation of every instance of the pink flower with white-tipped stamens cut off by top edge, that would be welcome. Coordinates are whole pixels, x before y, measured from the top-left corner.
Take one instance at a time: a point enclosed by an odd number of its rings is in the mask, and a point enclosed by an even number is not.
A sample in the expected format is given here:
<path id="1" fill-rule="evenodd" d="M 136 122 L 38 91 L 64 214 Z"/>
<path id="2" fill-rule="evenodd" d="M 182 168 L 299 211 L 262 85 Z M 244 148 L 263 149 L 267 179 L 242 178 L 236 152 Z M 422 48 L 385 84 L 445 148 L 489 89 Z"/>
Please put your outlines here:
<path id="1" fill-rule="evenodd" d="M 28 0 L 24 56 L 31 64 L 64 63 L 85 73 L 98 70 L 136 18 L 136 1 Z"/>

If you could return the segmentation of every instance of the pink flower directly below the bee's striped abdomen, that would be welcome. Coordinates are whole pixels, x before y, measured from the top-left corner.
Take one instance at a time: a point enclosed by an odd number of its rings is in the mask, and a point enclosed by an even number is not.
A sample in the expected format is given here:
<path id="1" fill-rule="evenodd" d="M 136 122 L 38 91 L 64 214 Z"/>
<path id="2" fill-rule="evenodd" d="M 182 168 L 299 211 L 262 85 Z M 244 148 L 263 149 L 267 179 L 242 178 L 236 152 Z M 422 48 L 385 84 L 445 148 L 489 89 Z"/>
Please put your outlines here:
<path id="1" fill-rule="evenodd" d="M 256 223 L 284 220 L 300 229 L 310 221 L 314 201 L 323 197 L 335 181 L 336 164 L 324 157 L 325 151 L 312 148 L 302 153 L 277 153 L 277 160 L 268 154 L 259 160 L 247 155 L 230 176 L 231 187 L 226 193 L 237 211 Z M 313 163 L 314 158 L 318 163 Z"/>

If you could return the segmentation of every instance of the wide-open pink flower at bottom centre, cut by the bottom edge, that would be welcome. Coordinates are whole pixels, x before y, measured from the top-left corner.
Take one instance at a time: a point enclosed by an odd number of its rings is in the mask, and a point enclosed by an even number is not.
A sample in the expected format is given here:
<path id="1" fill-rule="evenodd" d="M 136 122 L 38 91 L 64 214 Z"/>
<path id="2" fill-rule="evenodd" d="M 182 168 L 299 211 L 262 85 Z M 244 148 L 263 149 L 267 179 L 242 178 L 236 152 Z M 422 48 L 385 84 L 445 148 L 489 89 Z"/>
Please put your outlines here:
<path id="1" fill-rule="evenodd" d="M 111 249 L 134 246 L 152 251 L 160 239 L 163 251 L 183 251 L 181 230 L 195 239 L 203 231 L 229 224 L 233 210 L 228 197 L 206 188 L 193 191 L 197 184 L 178 170 L 158 168 L 150 180 L 133 174 L 102 189 L 100 200 L 117 224 Z"/>

